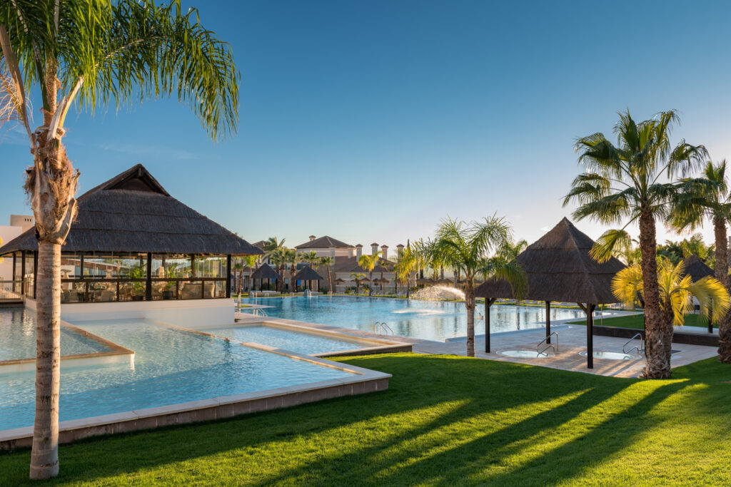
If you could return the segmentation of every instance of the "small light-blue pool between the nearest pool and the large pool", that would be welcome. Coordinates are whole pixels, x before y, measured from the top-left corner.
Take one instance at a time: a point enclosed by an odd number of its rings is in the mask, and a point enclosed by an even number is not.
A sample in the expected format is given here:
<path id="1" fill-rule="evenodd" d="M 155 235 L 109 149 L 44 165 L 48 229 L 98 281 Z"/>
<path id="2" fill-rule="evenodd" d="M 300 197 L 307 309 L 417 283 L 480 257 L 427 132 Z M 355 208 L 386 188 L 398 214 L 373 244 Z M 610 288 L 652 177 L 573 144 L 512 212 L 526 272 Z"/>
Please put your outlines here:
<path id="1" fill-rule="evenodd" d="M 224 326 L 221 328 L 206 328 L 207 333 L 228 337 L 239 342 L 255 342 L 271 347 L 284 348 L 297 353 L 311 355 L 314 353 L 337 352 L 352 350 L 370 345 L 360 345 L 355 342 L 346 342 L 335 338 L 323 337 L 299 331 L 289 331 L 273 326 Z"/>

